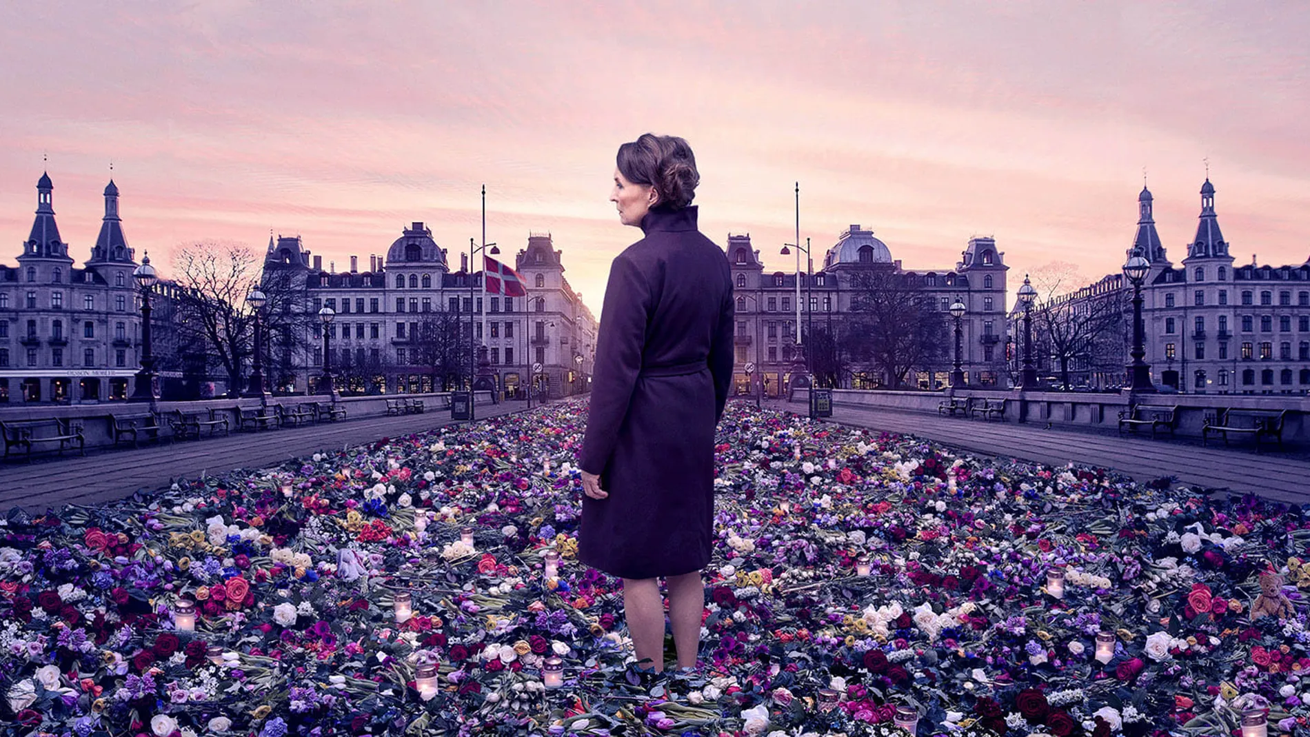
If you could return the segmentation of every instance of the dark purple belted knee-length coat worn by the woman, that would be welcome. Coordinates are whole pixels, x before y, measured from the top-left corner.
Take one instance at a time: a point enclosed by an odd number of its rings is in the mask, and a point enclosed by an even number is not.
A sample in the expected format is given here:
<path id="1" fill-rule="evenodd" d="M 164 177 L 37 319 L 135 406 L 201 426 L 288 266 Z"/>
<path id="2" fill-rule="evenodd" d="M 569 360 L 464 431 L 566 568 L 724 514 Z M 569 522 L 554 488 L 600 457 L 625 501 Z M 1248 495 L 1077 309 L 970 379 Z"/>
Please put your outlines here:
<path id="1" fill-rule="evenodd" d="M 625 579 L 700 571 L 714 534 L 714 429 L 732 380 L 732 279 L 694 206 L 651 211 L 609 268 L 582 470 L 578 558 Z"/>

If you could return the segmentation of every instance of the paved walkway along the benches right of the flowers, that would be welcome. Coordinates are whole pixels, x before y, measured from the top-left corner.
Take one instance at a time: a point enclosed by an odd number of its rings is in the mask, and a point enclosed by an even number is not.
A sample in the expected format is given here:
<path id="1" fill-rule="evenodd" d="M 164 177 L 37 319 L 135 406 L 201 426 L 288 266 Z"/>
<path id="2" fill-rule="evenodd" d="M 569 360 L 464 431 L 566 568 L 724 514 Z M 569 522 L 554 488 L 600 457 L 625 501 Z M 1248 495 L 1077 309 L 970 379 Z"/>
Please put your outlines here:
<path id="1" fill-rule="evenodd" d="M 776 410 L 804 414 L 804 402 L 765 402 Z M 975 453 L 1022 458 L 1051 466 L 1070 461 L 1114 469 L 1138 482 L 1178 476 L 1188 484 L 1234 494 L 1254 492 L 1280 501 L 1310 503 L 1310 459 L 1302 453 L 1203 448 L 1189 440 L 1119 437 L 1117 433 L 1044 429 L 1043 424 L 998 423 L 921 412 L 838 406 L 832 422 L 917 435 Z"/>

